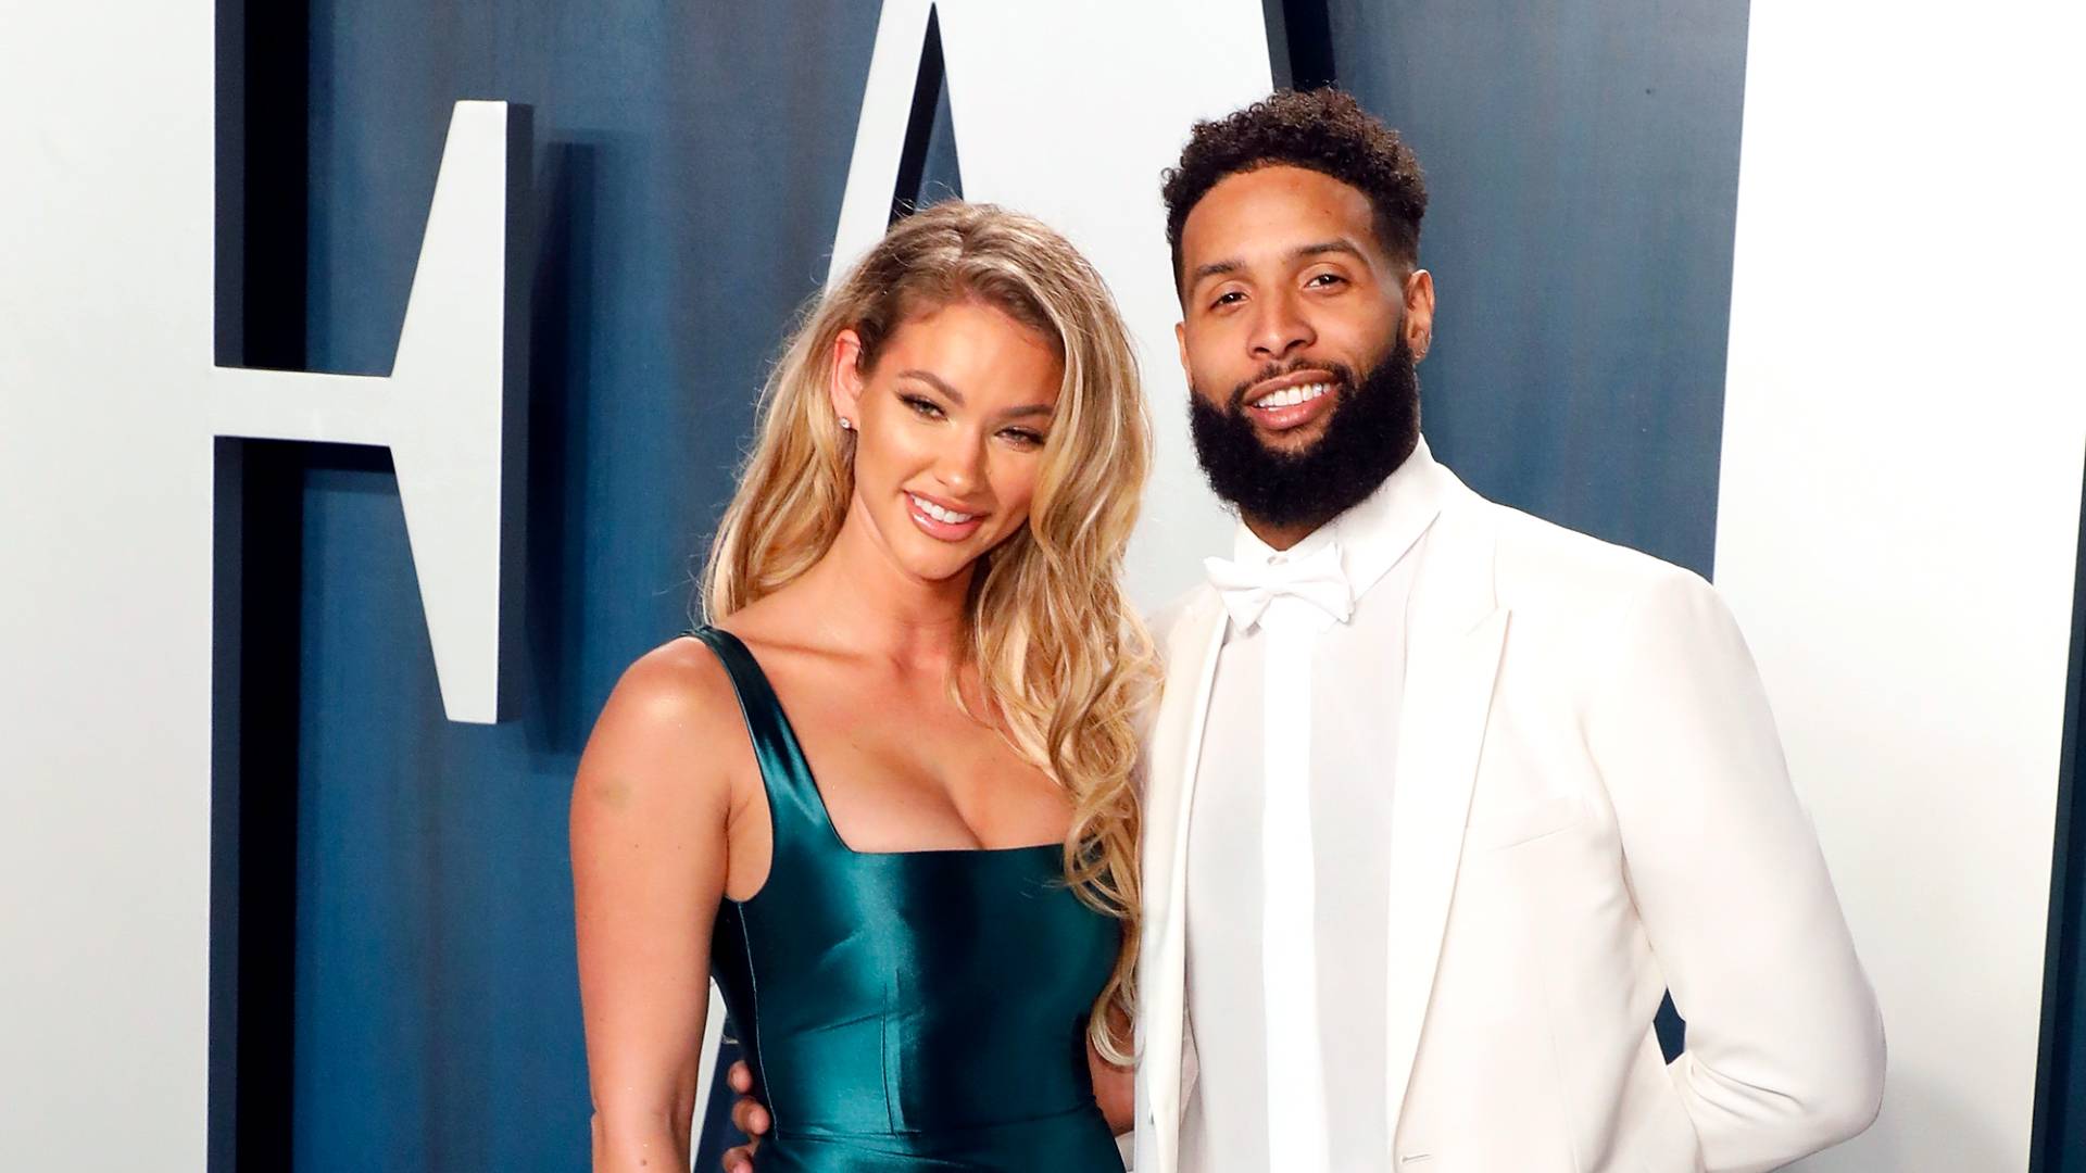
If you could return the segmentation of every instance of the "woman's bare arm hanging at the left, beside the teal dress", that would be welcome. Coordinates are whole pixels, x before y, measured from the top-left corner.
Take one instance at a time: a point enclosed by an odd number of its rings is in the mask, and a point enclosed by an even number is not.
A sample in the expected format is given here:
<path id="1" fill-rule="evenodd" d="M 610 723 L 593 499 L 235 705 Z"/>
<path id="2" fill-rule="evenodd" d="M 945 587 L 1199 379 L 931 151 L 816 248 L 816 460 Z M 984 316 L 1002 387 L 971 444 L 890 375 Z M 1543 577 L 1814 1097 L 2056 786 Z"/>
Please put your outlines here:
<path id="1" fill-rule="evenodd" d="M 688 1169 L 730 810 L 718 747 L 743 737 L 726 724 L 736 722 L 728 689 L 693 641 L 645 655 L 615 685 L 574 779 L 595 1173 Z"/>

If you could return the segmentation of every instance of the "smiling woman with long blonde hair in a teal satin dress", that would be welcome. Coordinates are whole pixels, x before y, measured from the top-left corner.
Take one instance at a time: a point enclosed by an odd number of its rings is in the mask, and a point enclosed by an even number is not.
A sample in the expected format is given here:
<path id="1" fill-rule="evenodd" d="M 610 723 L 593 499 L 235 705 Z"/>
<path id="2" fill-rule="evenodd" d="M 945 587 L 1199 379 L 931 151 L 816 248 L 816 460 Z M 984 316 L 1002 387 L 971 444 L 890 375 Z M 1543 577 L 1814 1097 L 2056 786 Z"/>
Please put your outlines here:
<path id="1" fill-rule="evenodd" d="M 597 1173 L 688 1167 L 705 973 L 761 1173 L 1120 1169 L 1147 463 L 1114 303 L 1035 219 L 912 215 L 799 326 L 713 626 L 574 785 Z"/>

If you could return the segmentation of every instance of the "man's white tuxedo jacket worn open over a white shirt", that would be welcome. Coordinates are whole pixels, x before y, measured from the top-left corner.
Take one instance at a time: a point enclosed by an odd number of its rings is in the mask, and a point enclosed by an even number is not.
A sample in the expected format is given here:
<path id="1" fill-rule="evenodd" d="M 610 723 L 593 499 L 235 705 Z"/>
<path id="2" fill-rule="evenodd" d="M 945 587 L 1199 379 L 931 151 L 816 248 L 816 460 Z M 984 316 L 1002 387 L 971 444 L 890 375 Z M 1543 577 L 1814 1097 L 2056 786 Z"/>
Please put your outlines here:
<path id="1" fill-rule="evenodd" d="M 1439 513 L 1389 772 L 1383 1169 L 1740 1173 L 1854 1135 L 1884 1027 L 1731 616 L 1696 574 L 1414 459 Z M 1187 822 L 1224 622 L 1208 584 L 1156 622 L 1137 1173 L 1177 1173 L 1195 1079 Z"/>

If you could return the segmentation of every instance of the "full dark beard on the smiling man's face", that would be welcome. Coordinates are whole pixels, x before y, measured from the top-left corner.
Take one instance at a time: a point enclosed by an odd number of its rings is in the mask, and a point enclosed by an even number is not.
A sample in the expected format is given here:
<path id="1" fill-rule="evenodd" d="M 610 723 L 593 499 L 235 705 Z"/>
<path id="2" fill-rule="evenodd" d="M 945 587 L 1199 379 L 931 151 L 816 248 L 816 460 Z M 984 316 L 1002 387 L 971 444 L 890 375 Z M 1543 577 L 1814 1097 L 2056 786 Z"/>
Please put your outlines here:
<path id="1" fill-rule="evenodd" d="M 1268 449 L 1245 417 L 1245 392 L 1279 378 L 1266 369 L 1239 384 L 1224 407 L 1189 392 L 1189 428 L 1210 488 L 1247 520 L 1268 526 L 1323 526 L 1360 505 L 1383 478 L 1406 463 L 1421 438 L 1421 380 L 1404 338 L 1360 382 L 1343 365 L 1297 361 L 1291 369 L 1325 369 L 1339 401 L 1325 434 L 1300 453 Z"/>

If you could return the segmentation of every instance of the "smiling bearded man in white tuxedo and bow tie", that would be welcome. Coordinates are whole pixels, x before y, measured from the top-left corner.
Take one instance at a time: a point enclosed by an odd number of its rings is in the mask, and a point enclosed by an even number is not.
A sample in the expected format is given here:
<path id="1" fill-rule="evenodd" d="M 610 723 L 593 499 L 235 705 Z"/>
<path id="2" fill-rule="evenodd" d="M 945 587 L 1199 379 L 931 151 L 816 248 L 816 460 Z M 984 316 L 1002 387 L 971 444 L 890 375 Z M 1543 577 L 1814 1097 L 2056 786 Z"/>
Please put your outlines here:
<path id="1" fill-rule="evenodd" d="M 1241 524 L 1154 620 L 1137 1173 L 1738 1173 L 1867 1127 L 1882 1021 L 1723 603 L 1421 438 L 1406 144 L 1283 92 L 1164 198 Z"/>

